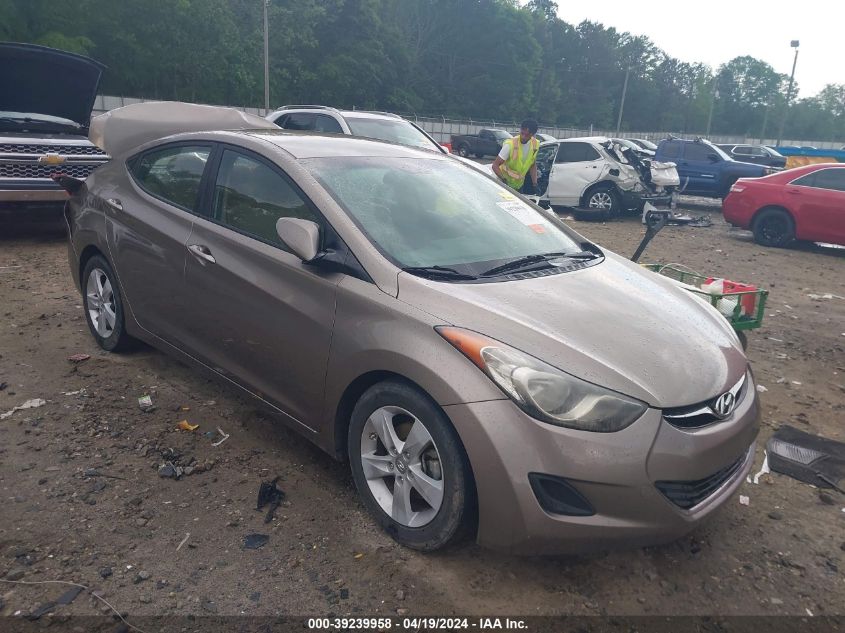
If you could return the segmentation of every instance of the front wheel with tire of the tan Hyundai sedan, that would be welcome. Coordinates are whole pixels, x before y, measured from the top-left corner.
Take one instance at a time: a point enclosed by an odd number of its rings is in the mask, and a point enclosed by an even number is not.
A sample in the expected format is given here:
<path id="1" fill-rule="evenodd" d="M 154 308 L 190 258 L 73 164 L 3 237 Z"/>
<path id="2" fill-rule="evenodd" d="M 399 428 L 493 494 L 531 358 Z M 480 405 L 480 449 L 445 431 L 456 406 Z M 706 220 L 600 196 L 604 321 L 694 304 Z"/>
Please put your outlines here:
<path id="1" fill-rule="evenodd" d="M 471 525 L 466 453 L 446 414 L 419 389 L 398 380 L 368 389 L 352 412 L 348 447 L 364 505 L 402 545 L 440 549 Z"/>

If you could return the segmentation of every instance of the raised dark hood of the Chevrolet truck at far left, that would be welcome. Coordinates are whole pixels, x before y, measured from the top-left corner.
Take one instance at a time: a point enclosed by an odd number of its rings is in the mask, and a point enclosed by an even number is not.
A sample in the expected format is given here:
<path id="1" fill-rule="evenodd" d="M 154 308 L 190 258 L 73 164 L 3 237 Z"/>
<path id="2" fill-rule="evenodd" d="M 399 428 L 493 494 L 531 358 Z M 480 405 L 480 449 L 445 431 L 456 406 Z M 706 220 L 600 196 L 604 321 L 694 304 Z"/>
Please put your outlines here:
<path id="1" fill-rule="evenodd" d="M 87 127 L 104 69 L 54 48 L 0 43 L 0 110 L 49 114 Z"/>

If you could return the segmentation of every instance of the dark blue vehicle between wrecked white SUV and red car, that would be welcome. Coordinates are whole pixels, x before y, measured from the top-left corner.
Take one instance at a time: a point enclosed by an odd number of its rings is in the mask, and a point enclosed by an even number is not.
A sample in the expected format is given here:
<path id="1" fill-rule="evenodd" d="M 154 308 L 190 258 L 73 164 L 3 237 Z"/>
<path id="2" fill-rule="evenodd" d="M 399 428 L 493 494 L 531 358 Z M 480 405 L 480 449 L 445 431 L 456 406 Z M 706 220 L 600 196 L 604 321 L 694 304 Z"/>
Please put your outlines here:
<path id="1" fill-rule="evenodd" d="M 704 139 L 664 139 L 657 146 L 654 159 L 678 166 L 679 193 L 708 198 L 724 198 L 739 178 L 759 178 L 777 171 L 734 160 Z"/>

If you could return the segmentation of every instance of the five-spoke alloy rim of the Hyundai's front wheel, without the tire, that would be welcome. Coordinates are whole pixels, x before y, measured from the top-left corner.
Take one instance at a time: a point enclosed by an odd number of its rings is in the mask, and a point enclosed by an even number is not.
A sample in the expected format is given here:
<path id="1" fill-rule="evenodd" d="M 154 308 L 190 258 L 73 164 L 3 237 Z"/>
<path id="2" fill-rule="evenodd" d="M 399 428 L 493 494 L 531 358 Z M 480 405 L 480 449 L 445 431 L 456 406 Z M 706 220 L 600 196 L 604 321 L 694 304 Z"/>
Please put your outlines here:
<path id="1" fill-rule="evenodd" d="M 374 411 L 361 432 L 361 466 L 370 492 L 394 521 L 418 528 L 443 504 L 440 453 L 425 424 L 394 406 Z"/>

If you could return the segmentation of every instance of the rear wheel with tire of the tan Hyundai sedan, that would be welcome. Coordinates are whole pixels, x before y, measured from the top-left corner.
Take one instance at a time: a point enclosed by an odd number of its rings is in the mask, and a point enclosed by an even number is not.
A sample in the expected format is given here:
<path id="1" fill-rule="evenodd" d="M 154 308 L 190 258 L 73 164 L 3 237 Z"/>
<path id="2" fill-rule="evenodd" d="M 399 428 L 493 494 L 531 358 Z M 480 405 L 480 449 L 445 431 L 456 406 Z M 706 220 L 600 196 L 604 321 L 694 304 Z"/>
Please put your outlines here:
<path id="1" fill-rule="evenodd" d="M 134 341 L 126 333 L 120 288 L 105 258 L 95 255 L 88 260 L 80 285 L 85 320 L 97 344 L 107 352 L 131 347 Z"/>

